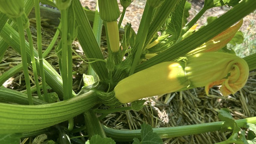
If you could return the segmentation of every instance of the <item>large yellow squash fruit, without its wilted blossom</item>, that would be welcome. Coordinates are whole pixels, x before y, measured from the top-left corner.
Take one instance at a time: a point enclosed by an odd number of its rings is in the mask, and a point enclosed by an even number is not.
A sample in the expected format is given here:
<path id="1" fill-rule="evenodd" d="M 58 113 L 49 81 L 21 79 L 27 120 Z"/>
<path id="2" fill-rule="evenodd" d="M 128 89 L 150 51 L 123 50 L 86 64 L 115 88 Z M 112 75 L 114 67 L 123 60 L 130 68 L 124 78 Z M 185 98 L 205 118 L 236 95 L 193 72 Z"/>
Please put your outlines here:
<path id="1" fill-rule="evenodd" d="M 121 80 L 114 92 L 121 103 L 175 92 L 189 85 L 184 62 L 163 62 Z M 146 81 L 145 81 L 146 80 Z"/>

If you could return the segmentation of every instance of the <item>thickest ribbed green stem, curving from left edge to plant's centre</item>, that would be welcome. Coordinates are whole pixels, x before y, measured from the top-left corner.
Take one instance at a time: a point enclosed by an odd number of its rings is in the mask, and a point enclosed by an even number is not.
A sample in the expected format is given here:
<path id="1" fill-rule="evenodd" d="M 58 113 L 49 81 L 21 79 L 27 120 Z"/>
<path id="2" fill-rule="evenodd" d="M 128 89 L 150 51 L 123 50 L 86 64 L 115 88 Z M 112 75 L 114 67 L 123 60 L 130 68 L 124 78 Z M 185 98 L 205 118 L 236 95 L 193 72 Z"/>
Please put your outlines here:
<path id="1" fill-rule="evenodd" d="M 0 134 L 50 127 L 88 111 L 98 102 L 96 92 L 88 91 L 68 100 L 45 105 L 0 103 Z"/>

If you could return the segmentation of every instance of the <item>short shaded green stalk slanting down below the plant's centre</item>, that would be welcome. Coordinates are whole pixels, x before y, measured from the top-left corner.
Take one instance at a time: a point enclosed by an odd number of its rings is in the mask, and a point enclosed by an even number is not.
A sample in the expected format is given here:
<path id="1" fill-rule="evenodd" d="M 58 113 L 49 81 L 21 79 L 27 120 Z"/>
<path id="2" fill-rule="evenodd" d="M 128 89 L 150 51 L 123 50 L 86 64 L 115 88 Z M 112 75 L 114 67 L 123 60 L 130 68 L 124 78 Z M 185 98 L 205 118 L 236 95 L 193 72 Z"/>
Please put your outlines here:
<path id="1" fill-rule="evenodd" d="M 85 126 L 89 137 L 100 135 L 102 138 L 107 138 L 101 122 L 93 111 L 84 112 Z"/>

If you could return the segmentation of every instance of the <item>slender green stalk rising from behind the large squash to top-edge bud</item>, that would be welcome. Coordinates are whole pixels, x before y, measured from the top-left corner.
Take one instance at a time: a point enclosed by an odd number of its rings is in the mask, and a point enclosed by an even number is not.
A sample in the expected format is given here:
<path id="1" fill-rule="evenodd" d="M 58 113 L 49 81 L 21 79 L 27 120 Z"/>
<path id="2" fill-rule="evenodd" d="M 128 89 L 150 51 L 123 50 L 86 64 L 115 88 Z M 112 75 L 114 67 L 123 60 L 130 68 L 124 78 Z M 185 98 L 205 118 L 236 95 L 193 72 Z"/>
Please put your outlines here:
<path id="1" fill-rule="evenodd" d="M 148 11 L 146 11 L 146 8 L 145 8 L 144 11 L 146 12 L 143 12 L 143 16 L 145 17 L 145 19 L 144 20 L 142 19 L 139 30 L 138 30 L 137 38 L 139 39 L 136 39 L 136 43 L 139 41 L 139 44 L 135 47 L 133 52 L 133 55 L 135 54 L 135 57 L 133 59 L 133 64 L 131 66 L 131 71 L 129 76 L 131 76 L 134 73 L 135 68 L 139 63 L 140 56 L 142 55 L 142 50 L 146 41 L 146 37 L 148 35 L 149 24 L 151 22 L 151 18 L 153 14 L 153 8 L 151 8 L 148 4 L 146 4 L 146 6 L 148 6 L 149 8 L 148 8 Z"/>

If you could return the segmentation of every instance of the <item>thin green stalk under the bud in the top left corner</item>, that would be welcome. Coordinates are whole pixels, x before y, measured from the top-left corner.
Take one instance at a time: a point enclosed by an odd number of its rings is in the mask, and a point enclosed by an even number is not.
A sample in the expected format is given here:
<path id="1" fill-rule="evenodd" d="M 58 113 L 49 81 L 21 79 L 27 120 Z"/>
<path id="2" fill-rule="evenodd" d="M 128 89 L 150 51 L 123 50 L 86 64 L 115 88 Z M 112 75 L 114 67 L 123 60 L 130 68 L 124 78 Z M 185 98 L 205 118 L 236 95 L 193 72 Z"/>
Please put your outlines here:
<path id="1" fill-rule="evenodd" d="M 33 99 L 30 89 L 30 80 L 29 80 L 29 71 L 27 68 L 27 56 L 26 56 L 26 46 L 25 46 L 25 34 L 24 34 L 24 28 L 23 28 L 23 21 L 21 17 L 17 18 L 17 25 L 18 30 L 20 34 L 20 51 L 21 51 L 21 59 L 22 59 L 22 66 L 23 66 L 23 72 L 26 82 L 26 88 L 27 88 L 27 98 L 29 100 L 29 105 L 33 105 Z"/>

